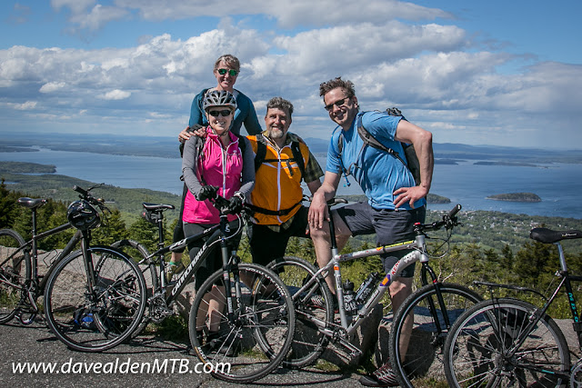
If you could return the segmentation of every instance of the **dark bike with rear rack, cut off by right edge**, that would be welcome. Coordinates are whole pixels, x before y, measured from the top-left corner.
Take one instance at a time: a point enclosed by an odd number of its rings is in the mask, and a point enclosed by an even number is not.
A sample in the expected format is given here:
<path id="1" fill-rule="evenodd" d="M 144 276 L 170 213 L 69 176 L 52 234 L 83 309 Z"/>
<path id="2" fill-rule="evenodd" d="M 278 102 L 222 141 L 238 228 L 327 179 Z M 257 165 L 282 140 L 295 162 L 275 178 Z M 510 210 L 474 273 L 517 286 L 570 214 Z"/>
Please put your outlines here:
<path id="1" fill-rule="evenodd" d="M 572 282 L 582 276 L 569 274 L 560 241 L 581 238 L 582 232 L 534 228 L 530 238 L 557 245 L 560 278 L 549 298 L 536 290 L 510 284 L 485 284 L 490 292 L 499 287 L 518 293 L 535 293 L 545 299 L 538 308 L 516 298 L 492 298 L 463 313 L 451 328 L 445 343 L 445 372 L 450 386 L 582 386 L 582 359 L 570 368 L 570 353 L 564 333 L 547 309 L 565 287 L 572 326 L 582 351 L 582 324 L 577 313 Z"/>

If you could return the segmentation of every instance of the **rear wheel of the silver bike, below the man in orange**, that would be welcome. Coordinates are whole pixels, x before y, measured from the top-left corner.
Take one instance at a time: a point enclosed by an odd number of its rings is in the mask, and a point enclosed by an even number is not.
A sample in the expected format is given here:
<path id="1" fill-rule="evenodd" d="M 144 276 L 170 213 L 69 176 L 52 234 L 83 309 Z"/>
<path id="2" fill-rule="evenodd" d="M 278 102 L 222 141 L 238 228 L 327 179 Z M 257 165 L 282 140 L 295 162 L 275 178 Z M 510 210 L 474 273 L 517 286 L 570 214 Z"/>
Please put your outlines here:
<path id="1" fill-rule="evenodd" d="M 328 343 L 328 337 L 319 327 L 326 328 L 334 321 L 333 296 L 326 281 L 318 277 L 306 292 L 298 294 L 297 291 L 316 274 L 314 265 L 299 257 L 285 256 L 269 263 L 267 268 L 279 276 L 291 293 L 297 318 L 291 353 L 287 354 L 283 366 L 301 368 L 315 363 Z M 321 304 L 315 305 L 315 300 Z"/>

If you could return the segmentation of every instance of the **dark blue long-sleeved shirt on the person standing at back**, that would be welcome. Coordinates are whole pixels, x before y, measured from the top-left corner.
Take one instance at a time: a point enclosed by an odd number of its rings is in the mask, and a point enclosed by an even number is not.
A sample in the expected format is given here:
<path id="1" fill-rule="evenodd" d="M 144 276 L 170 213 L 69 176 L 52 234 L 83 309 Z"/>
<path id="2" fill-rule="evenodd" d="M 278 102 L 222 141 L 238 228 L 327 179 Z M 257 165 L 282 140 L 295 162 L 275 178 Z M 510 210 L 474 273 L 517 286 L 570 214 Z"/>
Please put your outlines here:
<path id="1" fill-rule="evenodd" d="M 194 97 L 194 100 L 192 100 L 192 106 L 190 107 L 190 121 L 188 122 L 188 125 L 194 126 L 195 124 L 208 124 L 206 114 L 202 113 L 202 101 L 207 90 L 209 89 L 204 89 Z M 251 99 L 237 90 L 235 90 L 235 95 L 236 111 L 233 123 L 230 125 L 230 131 L 233 134 L 240 135 L 240 127 L 242 124 L 245 124 L 245 129 L 248 134 L 260 134 L 263 132 L 261 124 L 258 123 L 258 119 L 256 118 L 255 105 L 253 105 Z"/>

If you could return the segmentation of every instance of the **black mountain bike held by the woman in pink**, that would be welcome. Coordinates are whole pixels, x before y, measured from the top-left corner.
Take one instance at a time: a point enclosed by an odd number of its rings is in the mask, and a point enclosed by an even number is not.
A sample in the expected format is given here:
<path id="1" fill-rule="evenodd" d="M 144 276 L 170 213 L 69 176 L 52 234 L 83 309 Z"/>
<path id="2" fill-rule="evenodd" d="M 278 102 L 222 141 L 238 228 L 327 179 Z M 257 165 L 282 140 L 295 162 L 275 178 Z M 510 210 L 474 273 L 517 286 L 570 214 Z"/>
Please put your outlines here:
<path id="1" fill-rule="evenodd" d="M 196 284 L 189 315 L 190 342 L 203 363 L 228 365 L 226 369 L 214 369 L 217 378 L 237 383 L 253 382 L 271 373 L 288 353 L 296 324 L 293 301 L 276 274 L 258 264 L 241 263 L 236 247 L 229 246 L 228 240 L 236 240 L 242 234 L 245 218 L 236 214 L 236 221 L 229 223 L 228 200 L 216 195 L 216 190 L 209 198 L 202 199 L 208 199 L 219 210 L 220 223 L 168 246 L 163 246 L 161 226 L 162 212 L 167 205 L 145 204 L 146 212 L 156 214 L 159 221 L 158 244 L 162 246 L 140 261 L 153 271 L 155 279 L 147 302 L 148 318 L 161 322 L 174 314 L 172 305 L 177 296 L 184 291 L 200 264 L 212 260 L 219 250 L 222 269 L 203 284 Z M 203 238 L 206 243 L 191 258 L 176 283 L 167 284 L 165 255 Z M 120 244 L 123 245 L 137 247 L 135 242 Z M 213 303 L 225 307 L 215 308 Z M 213 328 L 215 330 L 211 331 Z"/>

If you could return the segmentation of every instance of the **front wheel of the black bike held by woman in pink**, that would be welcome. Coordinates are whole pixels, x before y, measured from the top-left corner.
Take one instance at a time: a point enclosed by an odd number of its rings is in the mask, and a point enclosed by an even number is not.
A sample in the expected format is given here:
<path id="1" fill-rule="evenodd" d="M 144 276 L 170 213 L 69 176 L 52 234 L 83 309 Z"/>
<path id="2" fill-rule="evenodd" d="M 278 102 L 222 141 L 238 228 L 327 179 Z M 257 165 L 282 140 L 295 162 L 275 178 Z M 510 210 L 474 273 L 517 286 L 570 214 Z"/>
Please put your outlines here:
<path id="1" fill-rule="evenodd" d="M 285 284 L 263 266 L 238 264 L 228 280 L 226 289 L 220 270 L 199 287 L 190 311 L 190 341 L 217 378 L 250 383 L 283 361 L 295 333 L 295 311 Z M 232 315 L 226 313 L 227 293 Z"/>

